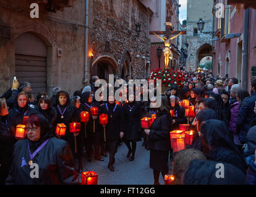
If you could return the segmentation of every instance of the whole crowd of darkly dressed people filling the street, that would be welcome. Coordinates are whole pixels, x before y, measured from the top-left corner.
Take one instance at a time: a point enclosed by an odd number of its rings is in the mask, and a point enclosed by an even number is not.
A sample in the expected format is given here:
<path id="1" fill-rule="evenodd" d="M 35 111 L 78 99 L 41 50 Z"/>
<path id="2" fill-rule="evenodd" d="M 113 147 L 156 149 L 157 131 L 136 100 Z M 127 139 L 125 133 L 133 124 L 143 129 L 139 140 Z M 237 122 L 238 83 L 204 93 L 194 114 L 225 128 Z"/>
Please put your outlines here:
<path id="1" fill-rule="evenodd" d="M 107 101 L 103 101 L 102 93 L 98 101 L 98 76 L 71 97 L 67 91 L 54 87 L 51 97 L 41 92 L 34 98 L 29 82 L 19 84 L 14 80 L 0 98 L 1 184 L 79 184 L 84 151 L 88 163 L 93 156 L 104 161 L 109 153 L 106 167 L 115 171 L 120 143 L 125 143 L 126 156 L 132 162 L 140 140 L 150 151 L 149 166 L 155 185 L 160 184 L 160 173 L 163 178 L 169 174 L 169 159 L 174 184 L 256 184 L 256 79 L 251 81 L 249 93 L 236 78 L 215 78 L 209 72 L 183 74 L 185 86 L 169 87 L 160 95 L 160 107 L 156 107 L 156 90 L 143 87 L 139 94 L 134 89 L 122 89 L 127 100 L 117 102 L 113 95 L 118 87 L 111 92 L 108 84 L 103 87 L 108 90 Z M 129 79 L 126 76 L 127 82 Z M 148 91 L 153 91 L 154 96 L 149 98 Z M 144 94 L 148 95 L 147 101 L 142 100 Z M 138 97 L 140 101 L 136 101 Z M 195 118 L 185 116 L 185 109 L 179 105 L 181 100 L 194 105 Z M 92 115 L 92 107 L 98 108 L 97 116 Z M 173 117 L 169 110 L 174 110 Z M 87 124 L 81 122 L 82 111 L 89 113 Z M 103 113 L 108 115 L 106 125 L 100 124 Z M 142 129 L 140 119 L 151 115 L 156 119 L 150 129 Z M 27 136 L 17 140 L 15 129 L 23 124 L 24 116 L 29 116 Z M 59 123 L 67 126 L 64 137 L 55 134 Z M 70 132 L 70 123 L 81 123 L 80 132 Z M 173 153 L 169 132 L 185 123 L 194 131 L 192 144 Z M 38 179 L 30 177 L 33 163 L 40 168 Z M 224 165 L 224 179 L 213 173 L 218 170 L 218 163 Z"/>

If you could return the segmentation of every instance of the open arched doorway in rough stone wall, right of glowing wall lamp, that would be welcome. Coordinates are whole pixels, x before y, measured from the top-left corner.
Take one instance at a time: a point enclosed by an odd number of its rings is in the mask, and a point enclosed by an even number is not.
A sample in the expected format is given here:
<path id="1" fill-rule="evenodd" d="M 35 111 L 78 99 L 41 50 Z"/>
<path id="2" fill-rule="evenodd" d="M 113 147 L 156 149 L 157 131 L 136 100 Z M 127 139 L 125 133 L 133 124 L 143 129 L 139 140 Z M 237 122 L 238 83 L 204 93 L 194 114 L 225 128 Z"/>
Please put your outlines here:
<path id="1" fill-rule="evenodd" d="M 98 57 L 92 64 L 91 75 L 96 75 L 100 79 L 109 80 L 109 74 L 118 74 L 118 66 L 116 61 L 109 56 Z"/>

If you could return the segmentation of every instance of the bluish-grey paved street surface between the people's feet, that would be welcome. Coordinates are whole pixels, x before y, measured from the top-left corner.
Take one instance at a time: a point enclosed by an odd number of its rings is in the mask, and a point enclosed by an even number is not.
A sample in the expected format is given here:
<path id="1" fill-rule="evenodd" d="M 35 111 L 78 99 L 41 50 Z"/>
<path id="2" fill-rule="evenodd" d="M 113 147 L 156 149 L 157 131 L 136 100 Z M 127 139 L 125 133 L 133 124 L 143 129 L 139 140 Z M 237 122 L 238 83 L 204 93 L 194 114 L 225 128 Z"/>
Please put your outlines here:
<path id="1" fill-rule="evenodd" d="M 143 141 L 137 143 L 134 161 L 126 158 L 127 147 L 124 143 L 118 147 L 116 163 L 113 165 L 115 172 L 109 171 L 108 158 L 105 158 L 105 161 L 93 159 L 92 163 L 88 163 L 84 154 L 83 172 L 95 171 L 98 174 L 98 185 L 153 185 L 153 169 L 149 167 L 150 151 L 142 147 L 142 143 Z M 171 161 L 169 161 L 169 172 L 171 172 Z M 80 174 L 80 180 L 81 177 Z M 161 174 L 160 183 L 164 184 Z"/>

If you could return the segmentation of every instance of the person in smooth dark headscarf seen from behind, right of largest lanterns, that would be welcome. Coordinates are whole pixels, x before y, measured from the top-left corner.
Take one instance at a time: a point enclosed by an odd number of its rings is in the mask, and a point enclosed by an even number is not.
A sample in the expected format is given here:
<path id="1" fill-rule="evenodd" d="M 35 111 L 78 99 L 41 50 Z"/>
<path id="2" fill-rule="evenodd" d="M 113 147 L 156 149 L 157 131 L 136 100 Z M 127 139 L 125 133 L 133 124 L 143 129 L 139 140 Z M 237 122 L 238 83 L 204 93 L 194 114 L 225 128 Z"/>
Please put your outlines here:
<path id="1" fill-rule="evenodd" d="M 228 127 L 223 121 L 210 119 L 200 126 L 203 153 L 208 159 L 232 164 L 242 172 L 246 172 L 244 155 L 230 139 Z"/>

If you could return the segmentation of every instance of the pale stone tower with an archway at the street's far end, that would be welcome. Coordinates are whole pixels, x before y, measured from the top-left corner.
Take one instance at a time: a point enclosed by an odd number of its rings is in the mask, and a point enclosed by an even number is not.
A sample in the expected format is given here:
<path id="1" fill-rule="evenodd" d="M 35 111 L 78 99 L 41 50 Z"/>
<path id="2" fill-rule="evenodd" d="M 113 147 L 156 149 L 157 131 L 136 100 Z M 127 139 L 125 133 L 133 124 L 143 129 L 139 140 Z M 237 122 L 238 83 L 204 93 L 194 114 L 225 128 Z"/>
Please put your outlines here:
<path id="1" fill-rule="evenodd" d="M 212 0 L 187 1 L 187 51 L 186 70 L 196 70 L 203 57 L 211 56 L 213 40 Z M 202 18 L 205 22 L 202 33 L 197 22 Z"/>

